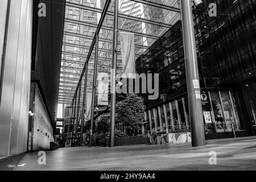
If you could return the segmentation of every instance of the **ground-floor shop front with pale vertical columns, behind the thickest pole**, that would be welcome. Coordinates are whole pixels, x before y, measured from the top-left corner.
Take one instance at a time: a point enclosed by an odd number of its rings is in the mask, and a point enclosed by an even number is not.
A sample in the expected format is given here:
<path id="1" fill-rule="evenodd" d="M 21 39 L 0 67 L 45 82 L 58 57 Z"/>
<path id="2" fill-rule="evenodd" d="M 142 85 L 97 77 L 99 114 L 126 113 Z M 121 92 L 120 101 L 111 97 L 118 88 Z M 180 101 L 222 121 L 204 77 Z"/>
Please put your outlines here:
<path id="1" fill-rule="evenodd" d="M 236 92 L 226 89 L 202 89 L 205 137 L 207 139 L 245 137 L 249 135 L 243 121 Z M 191 132 L 188 98 L 163 102 L 145 111 L 145 129 L 151 135 Z"/>

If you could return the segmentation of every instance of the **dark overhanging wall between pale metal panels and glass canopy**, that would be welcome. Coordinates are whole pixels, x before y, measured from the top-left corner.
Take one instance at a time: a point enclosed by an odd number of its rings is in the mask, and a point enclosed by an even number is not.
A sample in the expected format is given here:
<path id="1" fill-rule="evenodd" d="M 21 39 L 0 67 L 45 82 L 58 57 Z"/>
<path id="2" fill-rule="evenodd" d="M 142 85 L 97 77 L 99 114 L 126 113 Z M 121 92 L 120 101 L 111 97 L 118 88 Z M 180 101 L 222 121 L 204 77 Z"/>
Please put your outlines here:
<path id="1" fill-rule="evenodd" d="M 38 17 L 38 3 L 46 4 L 46 17 Z M 65 0 L 35 1 L 34 53 L 31 80 L 38 82 L 52 125 L 56 125 Z"/>

